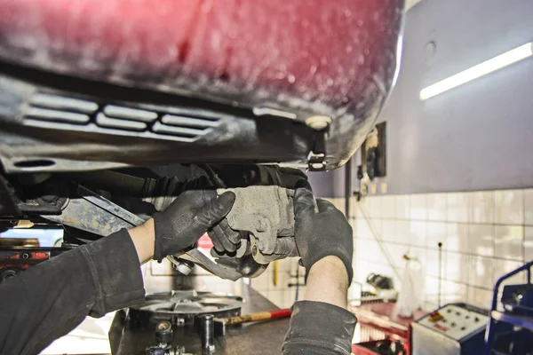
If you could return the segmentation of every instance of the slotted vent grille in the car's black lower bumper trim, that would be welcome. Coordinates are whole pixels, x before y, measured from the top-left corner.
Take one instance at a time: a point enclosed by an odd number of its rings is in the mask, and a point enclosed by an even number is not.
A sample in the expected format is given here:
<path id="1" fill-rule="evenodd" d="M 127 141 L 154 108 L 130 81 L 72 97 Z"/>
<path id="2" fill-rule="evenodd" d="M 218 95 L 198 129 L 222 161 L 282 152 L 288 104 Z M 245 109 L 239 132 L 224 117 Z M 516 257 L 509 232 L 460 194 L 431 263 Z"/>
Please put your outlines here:
<path id="1" fill-rule="evenodd" d="M 27 126 L 194 142 L 216 129 L 224 114 L 175 106 L 107 105 L 36 93 L 22 108 Z"/>

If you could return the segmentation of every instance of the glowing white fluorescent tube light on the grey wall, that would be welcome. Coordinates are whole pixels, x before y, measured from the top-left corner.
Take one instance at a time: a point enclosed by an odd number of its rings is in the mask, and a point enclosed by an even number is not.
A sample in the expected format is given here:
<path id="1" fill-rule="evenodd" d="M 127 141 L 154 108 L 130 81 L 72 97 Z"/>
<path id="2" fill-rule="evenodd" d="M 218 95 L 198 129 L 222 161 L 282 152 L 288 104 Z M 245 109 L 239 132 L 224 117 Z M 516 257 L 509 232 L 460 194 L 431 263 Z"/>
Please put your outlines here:
<path id="1" fill-rule="evenodd" d="M 433 85 L 422 89 L 422 91 L 420 91 L 420 99 L 426 100 L 433 98 L 434 96 L 442 94 L 444 91 L 449 91 L 464 83 L 472 82 L 483 75 L 495 72 L 502 67 L 507 67 L 508 65 L 531 56 L 533 56 L 533 42 L 523 44 L 518 48 L 507 51 L 493 59 L 484 61 L 477 66 L 470 67 L 456 75 L 449 76 L 449 78 L 446 78 L 439 83 L 434 83 Z"/>

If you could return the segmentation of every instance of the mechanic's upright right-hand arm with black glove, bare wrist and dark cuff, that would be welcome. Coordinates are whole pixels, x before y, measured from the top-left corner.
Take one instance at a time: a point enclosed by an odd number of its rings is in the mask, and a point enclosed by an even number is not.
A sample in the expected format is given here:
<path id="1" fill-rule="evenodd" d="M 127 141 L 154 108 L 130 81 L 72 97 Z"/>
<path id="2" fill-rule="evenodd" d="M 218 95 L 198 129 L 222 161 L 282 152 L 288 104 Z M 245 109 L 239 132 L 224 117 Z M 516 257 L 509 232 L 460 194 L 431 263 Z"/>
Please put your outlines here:
<path id="1" fill-rule="evenodd" d="M 318 208 L 318 210 L 316 210 Z M 314 201 L 305 182 L 294 196 L 296 244 L 307 269 L 304 301 L 292 306 L 282 353 L 349 355 L 357 319 L 346 311 L 352 281 L 352 227 L 330 202 Z"/>

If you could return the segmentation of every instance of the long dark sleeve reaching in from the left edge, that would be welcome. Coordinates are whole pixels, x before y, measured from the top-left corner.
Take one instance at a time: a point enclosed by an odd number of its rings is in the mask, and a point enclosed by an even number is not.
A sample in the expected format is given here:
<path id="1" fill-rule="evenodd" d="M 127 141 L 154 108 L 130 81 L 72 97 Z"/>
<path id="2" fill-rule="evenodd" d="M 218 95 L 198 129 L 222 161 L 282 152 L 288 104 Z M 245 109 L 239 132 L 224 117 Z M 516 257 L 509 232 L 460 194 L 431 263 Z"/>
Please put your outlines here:
<path id="1" fill-rule="evenodd" d="M 0 354 L 37 354 L 85 316 L 144 300 L 126 230 L 37 264 L 0 284 Z"/>

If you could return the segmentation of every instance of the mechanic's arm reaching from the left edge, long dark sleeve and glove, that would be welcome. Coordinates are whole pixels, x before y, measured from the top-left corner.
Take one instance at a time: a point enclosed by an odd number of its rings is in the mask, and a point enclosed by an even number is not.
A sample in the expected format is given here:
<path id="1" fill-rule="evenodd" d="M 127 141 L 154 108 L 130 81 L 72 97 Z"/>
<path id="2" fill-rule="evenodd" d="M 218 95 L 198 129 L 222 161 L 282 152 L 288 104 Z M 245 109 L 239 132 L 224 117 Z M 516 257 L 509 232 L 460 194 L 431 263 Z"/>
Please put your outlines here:
<path id="1" fill-rule="evenodd" d="M 0 354 L 36 354 L 86 315 L 144 301 L 140 264 L 178 253 L 227 215 L 234 193 L 181 193 L 144 225 L 121 230 L 0 284 Z"/>

